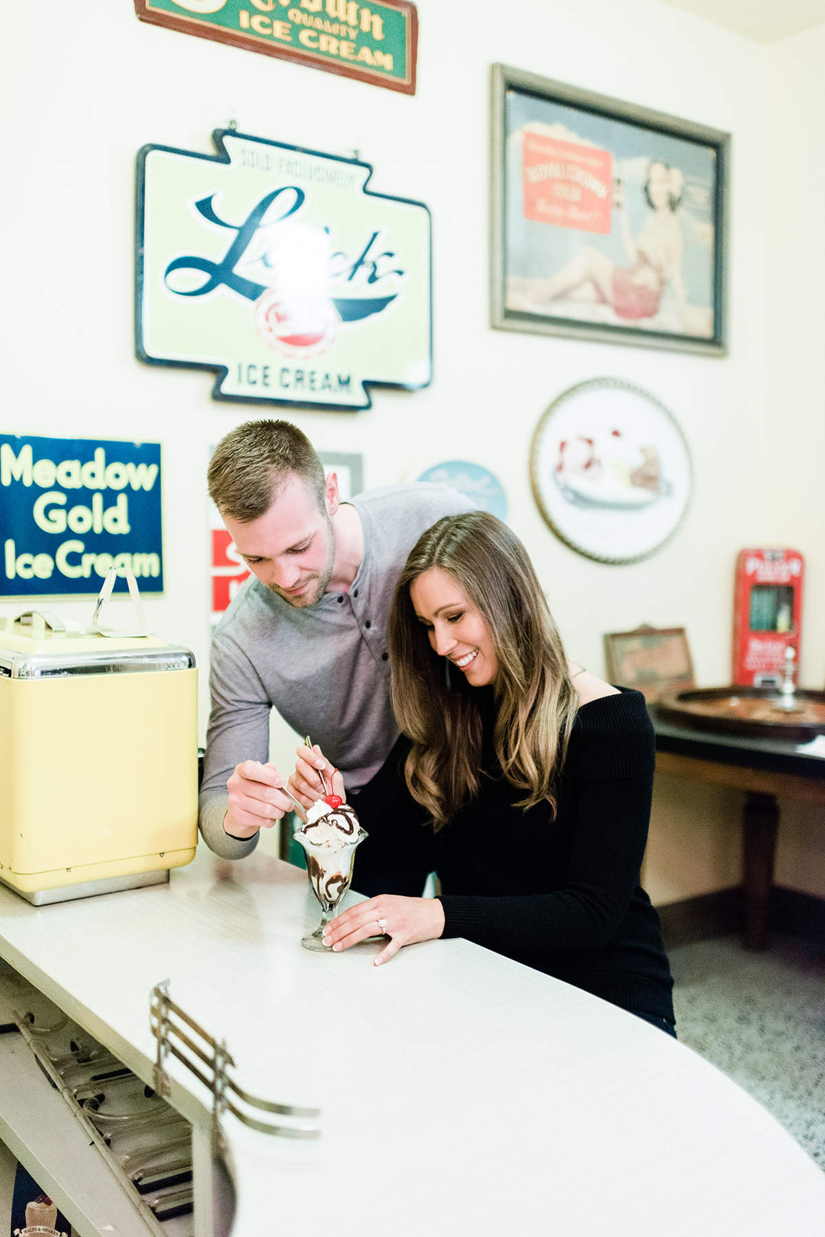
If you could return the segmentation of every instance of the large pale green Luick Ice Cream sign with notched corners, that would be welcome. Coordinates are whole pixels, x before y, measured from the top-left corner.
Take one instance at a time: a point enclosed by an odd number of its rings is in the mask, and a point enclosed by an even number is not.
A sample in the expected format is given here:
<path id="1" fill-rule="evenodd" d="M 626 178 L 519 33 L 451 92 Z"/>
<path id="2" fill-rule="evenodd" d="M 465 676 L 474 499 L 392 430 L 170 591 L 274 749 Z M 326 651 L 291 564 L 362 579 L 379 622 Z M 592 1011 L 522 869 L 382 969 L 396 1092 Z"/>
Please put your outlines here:
<path id="1" fill-rule="evenodd" d="M 367 163 L 216 130 L 137 161 L 136 350 L 213 398 L 369 408 L 432 372 L 430 221 Z"/>

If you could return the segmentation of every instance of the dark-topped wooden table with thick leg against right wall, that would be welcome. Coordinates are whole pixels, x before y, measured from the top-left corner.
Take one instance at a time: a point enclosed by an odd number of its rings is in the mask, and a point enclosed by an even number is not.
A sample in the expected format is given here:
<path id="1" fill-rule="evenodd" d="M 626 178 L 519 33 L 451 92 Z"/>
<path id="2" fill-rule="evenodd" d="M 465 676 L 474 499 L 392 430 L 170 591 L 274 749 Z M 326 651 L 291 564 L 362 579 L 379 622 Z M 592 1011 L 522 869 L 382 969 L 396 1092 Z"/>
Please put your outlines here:
<path id="1" fill-rule="evenodd" d="M 742 886 L 745 944 L 764 949 L 768 903 L 779 826 L 777 799 L 825 807 L 825 758 L 797 743 L 714 735 L 663 721 L 648 711 L 656 730 L 656 768 L 670 777 L 729 785 L 746 794 L 742 807 Z"/>

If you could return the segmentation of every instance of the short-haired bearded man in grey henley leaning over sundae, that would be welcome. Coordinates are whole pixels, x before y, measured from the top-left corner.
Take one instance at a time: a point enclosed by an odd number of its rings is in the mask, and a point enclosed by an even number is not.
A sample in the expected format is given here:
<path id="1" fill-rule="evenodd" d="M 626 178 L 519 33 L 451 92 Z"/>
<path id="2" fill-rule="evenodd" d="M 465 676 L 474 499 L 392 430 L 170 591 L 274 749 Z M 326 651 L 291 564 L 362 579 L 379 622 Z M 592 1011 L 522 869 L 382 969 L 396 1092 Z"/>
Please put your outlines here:
<path id="1" fill-rule="evenodd" d="M 386 651 L 396 580 L 421 533 L 472 503 L 423 484 L 340 502 L 335 475 L 286 421 L 226 434 L 209 494 L 254 579 L 213 641 L 200 831 L 218 855 L 242 858 L 292 808 L 266 763 L 272 706 L 335 762 L 348 793 L 382 784 L 398 738 Z"/>

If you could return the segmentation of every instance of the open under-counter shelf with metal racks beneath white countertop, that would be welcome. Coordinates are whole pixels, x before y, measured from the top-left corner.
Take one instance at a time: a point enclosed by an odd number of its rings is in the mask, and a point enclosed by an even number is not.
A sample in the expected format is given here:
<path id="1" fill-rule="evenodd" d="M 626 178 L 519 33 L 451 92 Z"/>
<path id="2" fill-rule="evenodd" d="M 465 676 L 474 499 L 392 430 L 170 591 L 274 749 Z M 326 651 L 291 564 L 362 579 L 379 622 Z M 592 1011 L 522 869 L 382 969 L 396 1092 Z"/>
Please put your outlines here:
<path id="1" fill-rule="evenodd" d="M 0 1024 L 4 1141 L 72 1223 L 190 1237 L 189 1122 L 6 964 Z"/>

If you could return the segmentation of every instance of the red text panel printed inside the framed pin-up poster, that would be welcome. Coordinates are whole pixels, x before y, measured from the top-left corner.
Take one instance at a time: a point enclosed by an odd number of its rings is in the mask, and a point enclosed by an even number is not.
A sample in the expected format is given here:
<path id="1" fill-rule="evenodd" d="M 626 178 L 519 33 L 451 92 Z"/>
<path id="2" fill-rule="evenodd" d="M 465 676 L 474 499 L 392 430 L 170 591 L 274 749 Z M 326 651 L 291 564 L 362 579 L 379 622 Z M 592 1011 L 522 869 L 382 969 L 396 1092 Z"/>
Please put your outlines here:
<path id="1" fill-rule="evenodd" d="M 522 137 L 523 214 L 542 224 L 607 235 L 613 205 L 610 151 L 558 137 Z"/>

